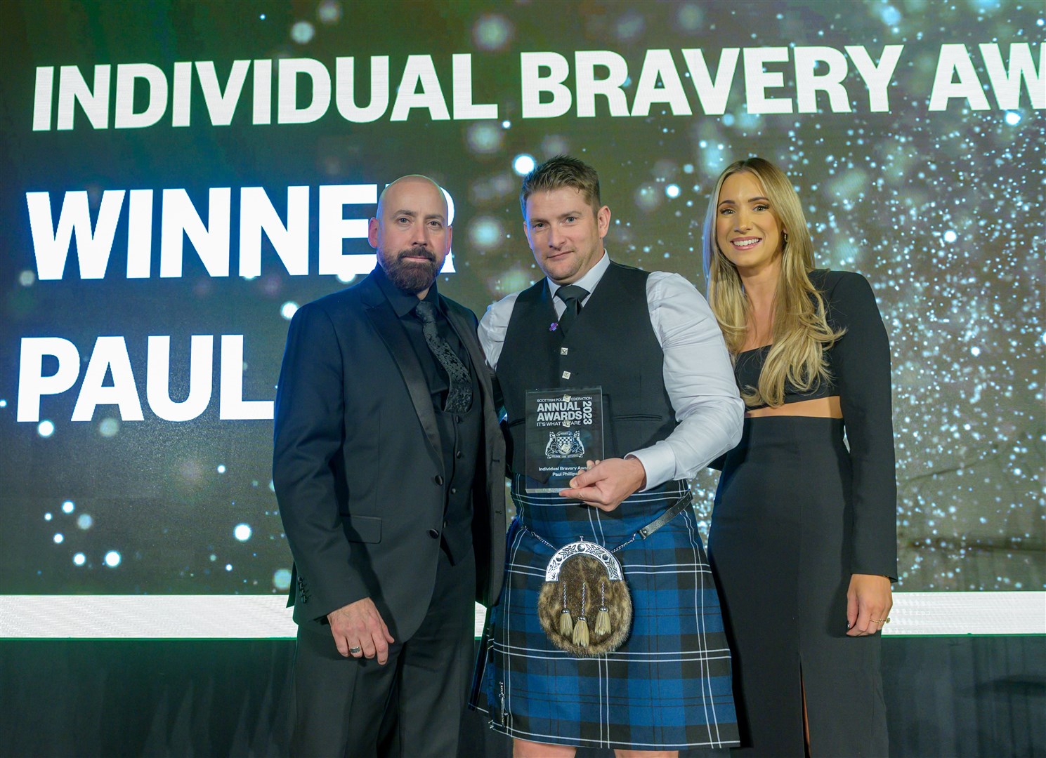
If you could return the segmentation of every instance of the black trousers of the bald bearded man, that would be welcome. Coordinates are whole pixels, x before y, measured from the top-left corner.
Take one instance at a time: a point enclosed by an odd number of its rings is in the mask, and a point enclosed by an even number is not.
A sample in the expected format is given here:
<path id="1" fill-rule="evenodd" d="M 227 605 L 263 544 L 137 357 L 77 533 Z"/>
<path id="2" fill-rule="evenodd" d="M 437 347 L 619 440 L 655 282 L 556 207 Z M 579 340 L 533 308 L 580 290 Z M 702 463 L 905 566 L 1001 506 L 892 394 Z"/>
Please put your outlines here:
<path id="1" fill-rule="evenodd" d="M 472 677 L 475 587 L 473 552 L 452 566 L 440 551 L 429 612 L 409 640 L 389 645 L 384 666 L 343 658 L 325 627 L 299 627 L 295 758 L 456 756 Z"/>

